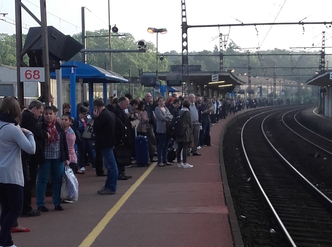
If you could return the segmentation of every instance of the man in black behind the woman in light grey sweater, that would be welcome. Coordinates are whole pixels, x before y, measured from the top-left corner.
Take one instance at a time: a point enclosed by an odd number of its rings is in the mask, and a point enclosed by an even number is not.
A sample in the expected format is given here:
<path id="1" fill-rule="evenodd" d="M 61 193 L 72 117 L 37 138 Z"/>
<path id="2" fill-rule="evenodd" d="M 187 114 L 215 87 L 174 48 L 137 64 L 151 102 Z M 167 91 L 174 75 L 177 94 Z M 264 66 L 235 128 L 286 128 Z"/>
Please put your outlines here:
<path id="1" fill-rule="evenodd" d="M 22 113 L 20 126 L 30 130 L 34 134 L 36 142 L 35 154 L 30 155 L 22 151 L 22 165 L 25 166 L 25 169 L 23 169 L 25 171 L 25 176 L 22 217 L 38 216 L 41 214 L 40 210 L 35 210 L 31 207 L 31 196 L 32 190 L 36 185 L 38 166 L 45 162 L 43 142 L 48 135 L 46 131 L 41 130 L 37 120 L 42 115 L 43 111 L 43 104 L 38 100 L 34 100 L 30 103 L 29 108 Z M 27 174 L 28 171 L 29 174 Z"/>

